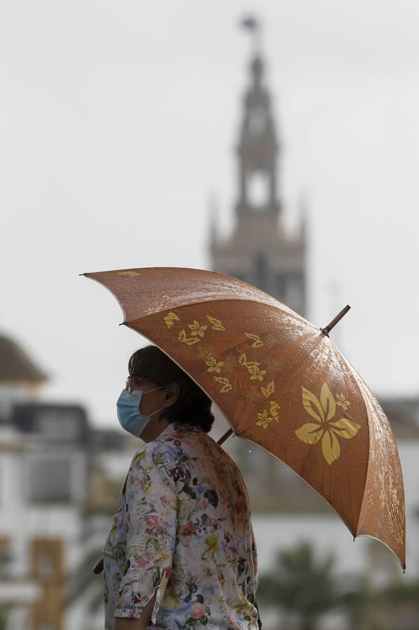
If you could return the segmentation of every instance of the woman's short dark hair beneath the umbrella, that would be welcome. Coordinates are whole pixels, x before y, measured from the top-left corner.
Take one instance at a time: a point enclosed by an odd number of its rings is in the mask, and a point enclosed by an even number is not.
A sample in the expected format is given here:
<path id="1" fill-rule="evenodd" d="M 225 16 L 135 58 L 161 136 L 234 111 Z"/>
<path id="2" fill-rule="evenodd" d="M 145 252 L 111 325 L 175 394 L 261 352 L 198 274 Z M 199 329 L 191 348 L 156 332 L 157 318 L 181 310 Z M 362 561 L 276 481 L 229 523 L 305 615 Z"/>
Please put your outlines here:
<path id="1" fill-rule="evenodd" d="M 132 377 L 150 379 L 157 386 L 177 383 L 179 398 L 164 411 L 169 422 L 194 424 L 206 433 L 213 426 L 211 398 L 157 346 L 140 348 L 129 359 L 129 374 Z"/>

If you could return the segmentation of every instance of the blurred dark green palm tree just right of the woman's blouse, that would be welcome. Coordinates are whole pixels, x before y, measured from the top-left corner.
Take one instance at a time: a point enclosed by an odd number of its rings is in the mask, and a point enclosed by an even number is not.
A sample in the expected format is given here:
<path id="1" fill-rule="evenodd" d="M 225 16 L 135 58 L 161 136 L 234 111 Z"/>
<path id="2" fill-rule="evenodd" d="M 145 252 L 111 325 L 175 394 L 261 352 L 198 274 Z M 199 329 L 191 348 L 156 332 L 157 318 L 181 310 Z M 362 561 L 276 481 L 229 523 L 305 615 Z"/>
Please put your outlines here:
<path id="1" fill-rule="evenodd" d="M 300 630 L 315 630 L 319 617 L 340 603 L 336 584 L 332 554 L 315 559 L 312 545 L 302 542 L 278 552 L 274 570 L 260 578 L 257 598 L 295 613 Z"/>

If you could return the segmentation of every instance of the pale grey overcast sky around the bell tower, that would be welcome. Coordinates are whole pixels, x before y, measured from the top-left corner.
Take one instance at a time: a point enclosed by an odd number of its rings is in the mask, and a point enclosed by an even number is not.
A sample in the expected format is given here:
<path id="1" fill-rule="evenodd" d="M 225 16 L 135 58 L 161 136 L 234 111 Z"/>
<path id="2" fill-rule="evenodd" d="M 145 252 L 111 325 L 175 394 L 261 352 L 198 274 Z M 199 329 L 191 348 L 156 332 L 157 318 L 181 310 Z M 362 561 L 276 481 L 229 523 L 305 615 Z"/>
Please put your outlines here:
<path id="1" fill-rule="evenodd" d="M 309 318 L 378 394 L 419 391 L 417 0 L 1 0 L 0 331 L 48 400 L 116 426 L 142 339 L 78 274 L 211 268 L 232 226 L 249 8 L 264 22 L 280 195 L 310 223 Z"/>

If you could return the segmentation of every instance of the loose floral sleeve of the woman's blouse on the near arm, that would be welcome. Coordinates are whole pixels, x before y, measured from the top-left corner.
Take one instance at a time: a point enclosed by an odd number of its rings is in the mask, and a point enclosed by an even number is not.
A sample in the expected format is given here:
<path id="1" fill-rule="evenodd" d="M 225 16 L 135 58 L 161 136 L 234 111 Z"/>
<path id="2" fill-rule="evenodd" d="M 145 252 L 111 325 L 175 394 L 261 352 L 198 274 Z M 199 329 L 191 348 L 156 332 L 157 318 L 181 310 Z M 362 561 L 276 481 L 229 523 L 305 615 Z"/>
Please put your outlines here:
<path id="1" fill-rule="evenodd" d="M 176 542 L 178 498 L 164 458 L 143 449 L 127 477 L 127 556 L 115 600 L 115 617 L 141 617 L 157 589 L 152 623 L 166 589 Z"/>

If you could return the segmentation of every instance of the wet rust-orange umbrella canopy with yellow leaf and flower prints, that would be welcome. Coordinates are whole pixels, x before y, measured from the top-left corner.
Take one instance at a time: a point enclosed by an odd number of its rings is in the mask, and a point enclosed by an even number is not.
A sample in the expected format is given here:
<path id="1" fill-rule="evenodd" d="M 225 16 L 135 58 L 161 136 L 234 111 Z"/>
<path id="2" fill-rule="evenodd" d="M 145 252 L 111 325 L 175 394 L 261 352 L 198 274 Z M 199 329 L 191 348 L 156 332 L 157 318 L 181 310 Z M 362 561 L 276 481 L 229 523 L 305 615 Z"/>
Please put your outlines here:
<path id="1" fill-rule="evenodd" d="M 294 470 L 354 538 L 381 540 L 405 567 L 395 438 L 327 330 L 245 282 L 200 269 L 84 275 L 111 290 L 123 323 L 190 374 L 236 435 Z"/>

